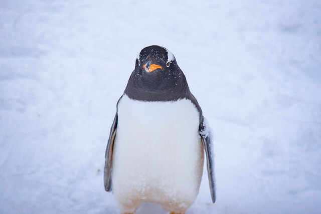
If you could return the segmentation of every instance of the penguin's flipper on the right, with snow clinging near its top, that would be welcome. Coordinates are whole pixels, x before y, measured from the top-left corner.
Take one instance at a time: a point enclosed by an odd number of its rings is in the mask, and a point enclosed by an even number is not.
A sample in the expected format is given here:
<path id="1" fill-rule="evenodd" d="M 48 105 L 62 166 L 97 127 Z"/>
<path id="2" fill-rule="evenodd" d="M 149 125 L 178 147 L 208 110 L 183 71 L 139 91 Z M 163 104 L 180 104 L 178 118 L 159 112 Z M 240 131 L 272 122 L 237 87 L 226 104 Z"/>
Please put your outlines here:
<path id="1" fill-rule="evenodd" d="M 205 149 L 206 163 L 207 163 L 207 173 L 209 177 L 210 191 L 212 196 L 212 201 L 215 203 L 216 193 L 215 193 L 215 174 L 214 174 L 214 157 L 212 154 L 212 132 L 207 123 L 207 120 L 203 117 L 202 125 L 200 126 L 200 135 Z"/>

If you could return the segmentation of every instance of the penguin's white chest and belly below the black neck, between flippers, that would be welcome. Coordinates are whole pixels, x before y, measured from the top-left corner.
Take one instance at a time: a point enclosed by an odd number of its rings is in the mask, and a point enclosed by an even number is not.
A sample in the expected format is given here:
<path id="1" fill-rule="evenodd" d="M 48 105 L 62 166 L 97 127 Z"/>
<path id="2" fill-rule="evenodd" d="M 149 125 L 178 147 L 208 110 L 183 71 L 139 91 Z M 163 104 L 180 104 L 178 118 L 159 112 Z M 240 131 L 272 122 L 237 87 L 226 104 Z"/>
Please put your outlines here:
<path id="1" fill-rule="evenodd" d="M 112 184 L 124 211 L 141 202 L 183 211 L 195 200 L 203 173 L 199 113 L 187 99 L 118 103 Z"/>

